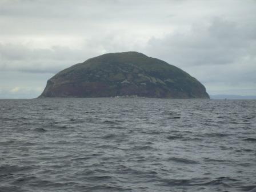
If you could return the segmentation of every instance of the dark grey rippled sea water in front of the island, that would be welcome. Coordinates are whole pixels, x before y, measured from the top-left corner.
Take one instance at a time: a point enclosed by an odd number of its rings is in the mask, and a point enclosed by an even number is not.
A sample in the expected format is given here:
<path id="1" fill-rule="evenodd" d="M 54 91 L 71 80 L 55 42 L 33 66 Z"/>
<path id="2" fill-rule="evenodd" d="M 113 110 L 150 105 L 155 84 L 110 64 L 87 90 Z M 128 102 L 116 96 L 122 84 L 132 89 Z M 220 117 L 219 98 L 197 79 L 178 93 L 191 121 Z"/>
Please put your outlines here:
<path id="1" fill-rule="evenodd" d="M 256 101 L 0 100 L 0 191 L 250 191 Z"/>

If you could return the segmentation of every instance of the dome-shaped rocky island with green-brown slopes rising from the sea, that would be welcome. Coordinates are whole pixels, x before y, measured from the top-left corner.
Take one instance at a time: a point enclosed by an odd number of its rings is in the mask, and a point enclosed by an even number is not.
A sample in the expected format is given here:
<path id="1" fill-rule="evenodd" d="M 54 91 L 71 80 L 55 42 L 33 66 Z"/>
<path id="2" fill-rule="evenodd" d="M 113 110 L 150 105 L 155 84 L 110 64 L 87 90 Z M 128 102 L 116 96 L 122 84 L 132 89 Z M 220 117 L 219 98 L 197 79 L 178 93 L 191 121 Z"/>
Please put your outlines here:
<path id="1" fill-rule="evenodd" d="M 205 87 L 178 67 L 142 53 L 109 53 L 60 71 L 39 97 L 209 98 Z"/>

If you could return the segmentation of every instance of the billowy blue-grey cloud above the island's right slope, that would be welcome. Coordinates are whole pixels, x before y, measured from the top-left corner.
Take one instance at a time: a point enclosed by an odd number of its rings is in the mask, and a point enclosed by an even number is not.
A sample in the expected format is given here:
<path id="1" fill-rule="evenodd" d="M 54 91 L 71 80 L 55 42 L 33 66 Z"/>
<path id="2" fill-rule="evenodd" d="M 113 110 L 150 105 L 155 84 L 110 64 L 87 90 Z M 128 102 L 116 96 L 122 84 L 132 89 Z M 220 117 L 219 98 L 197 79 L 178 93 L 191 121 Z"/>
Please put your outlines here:
<path id="1" fill-rule="evenodd" d="M 189 33 L 152 38 L 148 51 L 181 66 L 225 65 L 254 56 L 250 55 L 256 51 L 253 34 L 254 26 L 214 18 L 207 25 L 194 25 Z"/>

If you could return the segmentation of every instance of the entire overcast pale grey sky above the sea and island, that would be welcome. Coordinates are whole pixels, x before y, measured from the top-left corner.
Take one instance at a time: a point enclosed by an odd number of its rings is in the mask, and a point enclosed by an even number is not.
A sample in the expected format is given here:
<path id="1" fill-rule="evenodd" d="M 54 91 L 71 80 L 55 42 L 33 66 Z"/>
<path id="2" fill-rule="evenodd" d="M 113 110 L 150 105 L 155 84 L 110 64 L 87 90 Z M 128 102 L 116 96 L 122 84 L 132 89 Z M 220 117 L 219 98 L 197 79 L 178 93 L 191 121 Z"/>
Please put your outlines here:
<path id="1" fill-rule="evenodd" d="M 255 0 L 0 0 L 0 98 L 104 53 L 177 66 L 207 93 L 256 95 Z"/>

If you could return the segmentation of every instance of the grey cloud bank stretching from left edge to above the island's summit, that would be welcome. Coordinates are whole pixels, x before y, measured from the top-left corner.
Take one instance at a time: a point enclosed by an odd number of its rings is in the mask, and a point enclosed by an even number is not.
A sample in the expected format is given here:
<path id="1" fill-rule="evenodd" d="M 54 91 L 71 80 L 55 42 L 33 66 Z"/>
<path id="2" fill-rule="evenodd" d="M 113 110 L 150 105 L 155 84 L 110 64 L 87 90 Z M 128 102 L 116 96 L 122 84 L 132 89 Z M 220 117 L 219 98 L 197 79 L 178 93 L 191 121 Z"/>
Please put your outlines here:
<path id="1" fill-rule="evenodd" d="M 128 42 L 115 34 L 82 41 L 79 48 L 58 45 L 33 48 L 22 43 L 0 43 L 0 70 L 54 74 L 103 53 L 130 51 L 140 47 L 138 43 Z"/>

